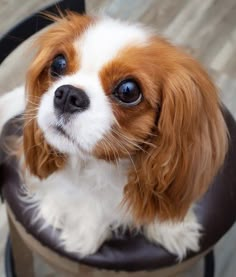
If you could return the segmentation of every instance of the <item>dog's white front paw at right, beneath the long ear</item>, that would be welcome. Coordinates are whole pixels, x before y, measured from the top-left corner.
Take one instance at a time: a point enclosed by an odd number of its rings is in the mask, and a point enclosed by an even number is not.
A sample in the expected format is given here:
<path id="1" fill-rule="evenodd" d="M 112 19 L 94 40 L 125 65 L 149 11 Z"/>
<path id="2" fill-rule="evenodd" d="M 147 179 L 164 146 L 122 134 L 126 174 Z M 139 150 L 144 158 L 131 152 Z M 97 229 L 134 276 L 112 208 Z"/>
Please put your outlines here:
<path id="1" fill-rule="evenodd" d="M 200 249 L 199 241 L 202 227 L 192 214 L 183 222 L 155 222 L 145 228 L 146 237 L 162 245 L 170 253 L 177 256 L 181 261 L 187 251 L 197 252 Z"/>

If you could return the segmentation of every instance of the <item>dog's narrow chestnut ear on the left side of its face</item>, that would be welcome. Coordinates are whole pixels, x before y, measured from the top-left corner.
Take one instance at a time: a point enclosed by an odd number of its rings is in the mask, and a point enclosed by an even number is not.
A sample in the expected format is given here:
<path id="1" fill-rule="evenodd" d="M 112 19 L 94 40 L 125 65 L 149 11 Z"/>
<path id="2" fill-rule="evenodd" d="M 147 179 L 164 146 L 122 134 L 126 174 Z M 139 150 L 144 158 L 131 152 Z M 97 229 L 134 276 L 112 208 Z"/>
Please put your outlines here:
<path id="1" fill-rule="evenodd" d="M 36 121 L 41 96 L 49 85 L 47 68 L 45 68 L 47 55 L 47 48 L 39 50 L 26 78 L 27 106 L 23 131 L 23 150 L 26 167 L 39 178 L 46 178 L 64 164 L 64 157 L 56 153 L 46 143 Z"/>

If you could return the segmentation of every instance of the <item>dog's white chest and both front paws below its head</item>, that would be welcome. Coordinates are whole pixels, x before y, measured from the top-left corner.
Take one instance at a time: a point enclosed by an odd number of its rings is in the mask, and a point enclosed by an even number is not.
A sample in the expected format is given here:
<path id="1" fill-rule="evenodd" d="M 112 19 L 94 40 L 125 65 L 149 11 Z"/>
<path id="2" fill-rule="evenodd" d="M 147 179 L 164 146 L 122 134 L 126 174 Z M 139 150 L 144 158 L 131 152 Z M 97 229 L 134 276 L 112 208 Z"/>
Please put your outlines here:
<path id="1" fill-rule="evenodd" d="M 128 161 L 118 164 L 90 159 L 70 159 L 67 166 L 45 180 L 27 175 L 26 201 L 37 207 L 45 226 L 61 229 L 65 249 L 81 256 L 95 253 L 118 226 L 132 224 L 132 215 L 122 207 Z M 43 228 L 44 226 L 42 226 Z M 144 235 L 182 259 L 187 249 L 198 251 L 201 225 L 190 209 L 182 222 L 159 222 L 143 226 Z"/>

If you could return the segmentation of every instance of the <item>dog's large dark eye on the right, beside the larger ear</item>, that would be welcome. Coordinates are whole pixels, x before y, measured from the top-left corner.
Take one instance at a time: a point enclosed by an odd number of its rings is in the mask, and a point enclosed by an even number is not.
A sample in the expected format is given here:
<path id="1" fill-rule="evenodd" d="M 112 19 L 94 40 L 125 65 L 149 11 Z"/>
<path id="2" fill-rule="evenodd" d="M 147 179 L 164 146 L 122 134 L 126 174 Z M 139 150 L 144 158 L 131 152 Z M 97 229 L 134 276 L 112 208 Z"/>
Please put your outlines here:
<path id="1" fill-rule="evenodd" d="M 133 80 L 122 81 L 114 90 L 113 96 L 126 106 L 134 106 L 141 102 L 142 93 Z"/>

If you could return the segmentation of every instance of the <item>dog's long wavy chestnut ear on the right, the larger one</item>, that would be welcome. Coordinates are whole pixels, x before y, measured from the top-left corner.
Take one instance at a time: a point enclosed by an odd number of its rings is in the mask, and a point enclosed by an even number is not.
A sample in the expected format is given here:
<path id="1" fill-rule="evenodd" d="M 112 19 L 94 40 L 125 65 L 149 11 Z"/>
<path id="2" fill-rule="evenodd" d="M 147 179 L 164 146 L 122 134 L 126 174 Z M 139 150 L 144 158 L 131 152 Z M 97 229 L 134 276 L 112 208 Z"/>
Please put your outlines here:
<path id="1" fill-rule="evenodd" d="M 182 219 L 206 192 L 228 146 L 218 94 L 206 72 L 178 52 L 166 68 L 153 146 L 135 157 L 125 188 L 125 202 L 141 223 L 156 216 Z"/>

